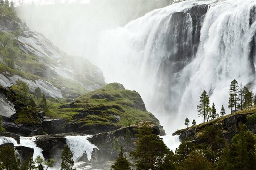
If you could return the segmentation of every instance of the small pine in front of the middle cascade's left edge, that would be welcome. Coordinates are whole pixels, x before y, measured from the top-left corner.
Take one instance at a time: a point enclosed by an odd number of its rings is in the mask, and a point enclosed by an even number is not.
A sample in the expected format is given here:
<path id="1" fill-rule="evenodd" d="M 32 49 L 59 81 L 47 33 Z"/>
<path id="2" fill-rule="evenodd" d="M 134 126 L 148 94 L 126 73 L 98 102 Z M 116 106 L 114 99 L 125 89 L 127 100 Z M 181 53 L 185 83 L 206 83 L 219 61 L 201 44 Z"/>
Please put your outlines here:
<path id="1" fill-rule="evenodd" d="M 64 147 L 64 150 L 61 153 L 61 161 L 61 170 L 73 170 L 73 153 L 68 145 Z"/>

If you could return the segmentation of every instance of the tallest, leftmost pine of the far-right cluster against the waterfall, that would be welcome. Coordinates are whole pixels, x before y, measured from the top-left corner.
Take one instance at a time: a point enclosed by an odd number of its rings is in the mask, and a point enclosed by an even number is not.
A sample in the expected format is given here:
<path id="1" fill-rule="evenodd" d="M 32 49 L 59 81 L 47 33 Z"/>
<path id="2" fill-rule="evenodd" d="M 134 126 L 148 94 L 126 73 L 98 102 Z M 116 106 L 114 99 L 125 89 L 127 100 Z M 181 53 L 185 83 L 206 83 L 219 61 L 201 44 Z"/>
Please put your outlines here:
<path id="1" fill-rule="evenodd" d="M 235 107 L 235 111 L 237 111 L 236 110 L 236 105 L 237 105 L 238 88 L 239 88 L 238 87 L 238 82 L 236 81 L 236 79 L 233 79 L 231 84 L 230 84 L 230 90 L 229 90 L 229 94 L 230 94 L 229 104 L 230 104 L 230 108 L 231 108 L 231 114 L 232 114 L 233 107 Z"/>

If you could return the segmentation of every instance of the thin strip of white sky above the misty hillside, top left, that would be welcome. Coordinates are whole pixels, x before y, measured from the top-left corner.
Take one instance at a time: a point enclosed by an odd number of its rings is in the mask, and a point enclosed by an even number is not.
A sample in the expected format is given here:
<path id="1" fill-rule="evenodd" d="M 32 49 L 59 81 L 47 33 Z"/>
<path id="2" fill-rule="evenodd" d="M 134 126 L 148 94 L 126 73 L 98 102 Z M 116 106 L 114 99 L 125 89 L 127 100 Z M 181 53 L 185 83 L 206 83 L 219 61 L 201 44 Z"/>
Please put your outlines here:
<path id="1" fill-rule="evenodd" d="M 21 2 L 25 5 L 31 4 L 34 2 L 37 5 L 43 4 L 54 4 L 54 3 L 89 3 L 90 0 L 13 0 L 16 6 L 18 6 Z"/>

